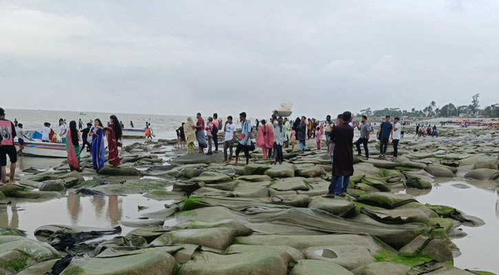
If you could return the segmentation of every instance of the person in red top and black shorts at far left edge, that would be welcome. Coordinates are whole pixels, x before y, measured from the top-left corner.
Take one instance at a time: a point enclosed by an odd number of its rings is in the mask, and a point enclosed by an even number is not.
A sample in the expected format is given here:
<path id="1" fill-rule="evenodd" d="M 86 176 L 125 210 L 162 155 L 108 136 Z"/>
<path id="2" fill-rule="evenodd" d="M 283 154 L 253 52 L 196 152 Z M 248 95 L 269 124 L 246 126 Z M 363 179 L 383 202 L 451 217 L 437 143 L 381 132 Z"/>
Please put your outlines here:
<path id="1" fill-rule="evenodd" d="M 0 186 L 7 183 L 7 156 L 10 159 L 10 184 L 17 184 L 14 179 L 16 174 L 17 151 L 14 146 L 14 137 L 17 136 L 16 126 L 10 120 L 6 120 L 6 111 L 0 108 Z"/>

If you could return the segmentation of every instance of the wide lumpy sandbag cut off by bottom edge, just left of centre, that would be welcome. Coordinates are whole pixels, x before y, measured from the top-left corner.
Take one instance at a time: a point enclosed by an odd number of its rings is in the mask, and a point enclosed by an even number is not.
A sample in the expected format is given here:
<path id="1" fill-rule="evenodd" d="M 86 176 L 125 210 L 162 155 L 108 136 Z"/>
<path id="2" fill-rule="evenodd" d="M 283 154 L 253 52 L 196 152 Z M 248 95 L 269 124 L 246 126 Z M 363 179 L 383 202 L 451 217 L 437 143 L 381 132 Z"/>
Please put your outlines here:
<path id="1" fill-rule="evenodd" d="M 179 275 L 286 275 L 292 260 L 287 252 L 268 250 L 229 255 L 196 252 L 180 268 Z"/>

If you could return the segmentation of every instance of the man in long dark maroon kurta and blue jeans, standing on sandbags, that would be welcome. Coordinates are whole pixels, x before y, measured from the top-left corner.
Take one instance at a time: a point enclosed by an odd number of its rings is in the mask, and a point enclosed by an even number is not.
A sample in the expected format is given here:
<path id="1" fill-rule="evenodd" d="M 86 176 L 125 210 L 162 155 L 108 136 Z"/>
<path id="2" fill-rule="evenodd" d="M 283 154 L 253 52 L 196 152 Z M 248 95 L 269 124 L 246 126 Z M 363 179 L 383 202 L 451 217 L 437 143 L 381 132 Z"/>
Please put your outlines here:
<path id="1" fill-rule="evenodd" d="M 346 197 L 350 176 L 354 174 L 353 139 L 354 129 L 348 124 L 352 113 L 346 111 L 342 115 L 341 125 L 335 126 L 331 131 L 331 140 L 335 142 L 332 162 L 332 178 L 328 193 L 322 197 L 334 198 L 335 195 Z"/>

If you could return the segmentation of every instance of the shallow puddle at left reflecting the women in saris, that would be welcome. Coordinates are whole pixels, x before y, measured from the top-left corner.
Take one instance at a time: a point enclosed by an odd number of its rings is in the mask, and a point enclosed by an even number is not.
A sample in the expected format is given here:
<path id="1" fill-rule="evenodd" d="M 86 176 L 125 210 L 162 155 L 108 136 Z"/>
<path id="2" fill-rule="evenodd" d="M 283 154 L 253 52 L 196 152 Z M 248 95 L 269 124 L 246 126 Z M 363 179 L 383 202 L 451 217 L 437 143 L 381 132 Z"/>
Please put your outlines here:
<path id="1" fill-rule="evenodd" d="M 163 210 L 165 204 L 174 202 L 155 201 L 142 195 L 109 197 L 67 195 L 43 202 L 10 201 L 12 202 L 10 206 L 0 209 L 0 227 L 25 230 L 30 238 L 34 238 L 33 232 L 36 228 L 47 224 L 114 228 L 120 225 L 122 220 L 139 219 L 143 213 Z M 148 208 L 140 210 L 138 206 Z M 123 225 L 121 227 L 122 235 L 134 229 Z"/>

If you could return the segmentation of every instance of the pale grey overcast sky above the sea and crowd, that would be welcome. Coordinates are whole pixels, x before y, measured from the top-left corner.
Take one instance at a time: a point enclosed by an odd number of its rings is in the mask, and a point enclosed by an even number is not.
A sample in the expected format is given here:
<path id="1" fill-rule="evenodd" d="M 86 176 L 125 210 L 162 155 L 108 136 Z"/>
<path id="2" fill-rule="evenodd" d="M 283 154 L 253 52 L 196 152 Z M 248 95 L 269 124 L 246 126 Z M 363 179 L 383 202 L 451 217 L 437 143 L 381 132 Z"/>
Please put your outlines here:
<path id="1" fill-rule="evenodd" d="M 0 1 L 4 108 L 321 117 L 499 102 L 499 1 Z"/>

